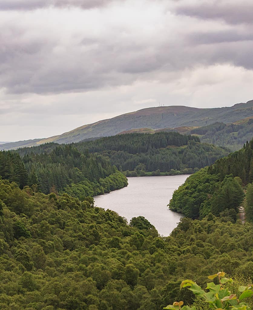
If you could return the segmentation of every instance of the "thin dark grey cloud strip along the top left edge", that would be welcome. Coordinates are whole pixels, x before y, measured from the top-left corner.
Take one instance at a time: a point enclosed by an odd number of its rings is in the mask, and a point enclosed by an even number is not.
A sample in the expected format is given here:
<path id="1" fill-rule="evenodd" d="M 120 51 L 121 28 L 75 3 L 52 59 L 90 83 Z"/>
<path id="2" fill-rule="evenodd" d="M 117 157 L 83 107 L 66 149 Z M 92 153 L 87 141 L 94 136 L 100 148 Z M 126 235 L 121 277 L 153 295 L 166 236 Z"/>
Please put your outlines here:
<path id="1" fill-rule="evenodd" d="M 0 10 L 35 10 L 45 7 L 81 7 L 90 9 L 107 5 L 110 0 L 2 0 Z"/>

